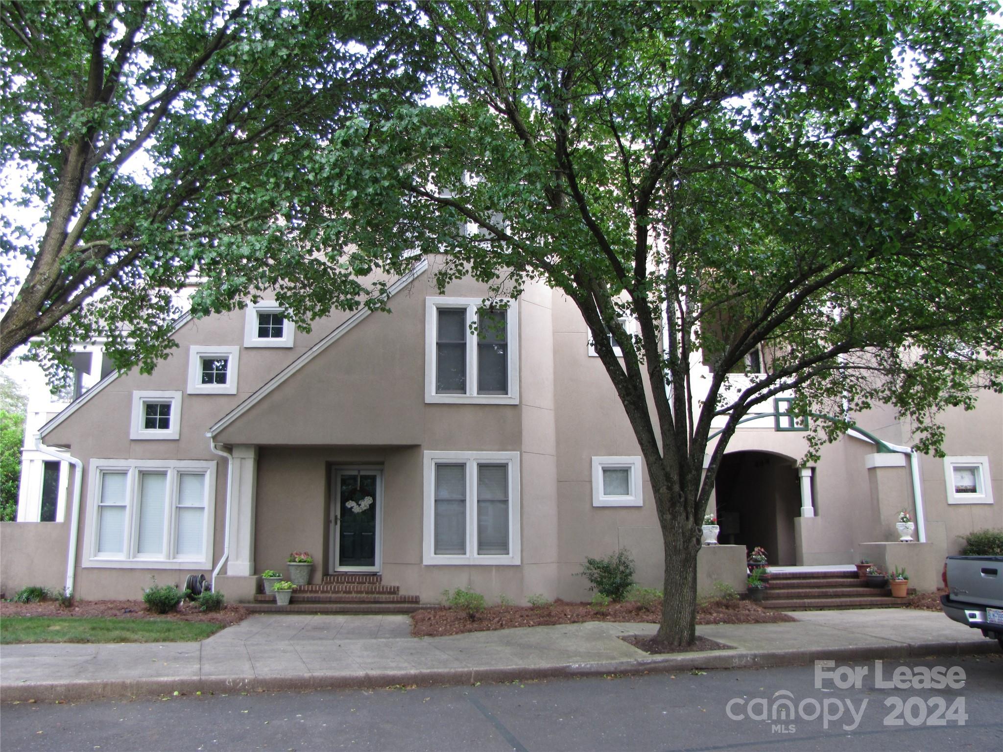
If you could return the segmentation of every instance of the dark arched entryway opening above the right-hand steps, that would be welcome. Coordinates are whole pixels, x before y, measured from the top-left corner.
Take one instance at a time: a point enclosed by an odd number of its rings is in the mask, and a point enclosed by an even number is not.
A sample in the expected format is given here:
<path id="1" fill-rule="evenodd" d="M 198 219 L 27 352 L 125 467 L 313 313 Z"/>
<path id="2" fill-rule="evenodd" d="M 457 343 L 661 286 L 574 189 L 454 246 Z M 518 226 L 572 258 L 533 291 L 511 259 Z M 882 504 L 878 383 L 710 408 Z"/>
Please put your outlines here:
<path id="1" fill-rule="evenodd" d="M 797 464 L 791 457 L 762 451 L 725 454 L 715 482 L 718 541 L 761 545 L 769 563 L 796 563 L 794 517 L 800 514 Z"/>

